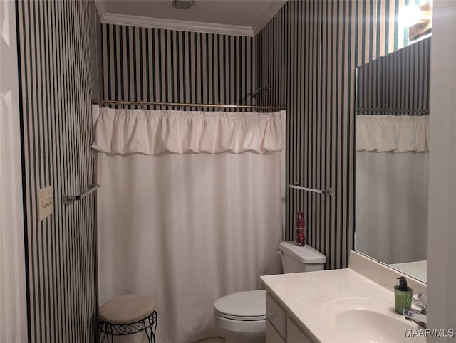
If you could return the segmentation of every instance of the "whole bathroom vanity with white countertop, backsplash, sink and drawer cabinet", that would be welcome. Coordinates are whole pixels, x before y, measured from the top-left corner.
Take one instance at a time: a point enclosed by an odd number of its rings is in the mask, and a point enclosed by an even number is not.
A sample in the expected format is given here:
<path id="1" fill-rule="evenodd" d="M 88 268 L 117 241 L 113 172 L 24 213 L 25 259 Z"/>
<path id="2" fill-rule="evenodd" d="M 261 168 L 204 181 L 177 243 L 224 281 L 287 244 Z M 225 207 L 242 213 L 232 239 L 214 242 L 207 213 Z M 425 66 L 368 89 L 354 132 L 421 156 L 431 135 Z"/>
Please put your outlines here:
<path id="1" fill-rule="evenodd" d="M 266 343 L 410 342 L 406 335 L 422 327 L 395 312 L 399 276 L 355 251 L 346 269 L 262 276 Z M 409 285 L 413 292 L 427 288 L 414 279 Z"/>

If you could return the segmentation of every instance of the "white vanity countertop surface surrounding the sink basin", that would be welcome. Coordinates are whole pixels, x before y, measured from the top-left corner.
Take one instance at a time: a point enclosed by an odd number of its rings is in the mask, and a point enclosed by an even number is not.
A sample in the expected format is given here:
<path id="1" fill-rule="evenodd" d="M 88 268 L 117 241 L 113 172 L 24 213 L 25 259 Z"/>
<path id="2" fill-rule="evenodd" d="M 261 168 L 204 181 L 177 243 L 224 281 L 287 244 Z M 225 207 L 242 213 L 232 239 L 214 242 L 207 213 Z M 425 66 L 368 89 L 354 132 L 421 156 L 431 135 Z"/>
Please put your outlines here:
<path id="1" fill-rule="evenodd" d="M 389 290 L 350 268 L 266 275 L 261 276 L 261 280 L 266 291 L 273 292 L 286 311 L 301 322 L 304 331 L 311 332 L 321 342 L 348 342 L 329 323 L 331 308 L 335 301 L 340 305 L 343 298 L 346 301 L 368 300 L 384 315 L 395 316 L 405 324 L 419 328 L 418 324 L 395 313 L 393 289 Z M 416 342 L 415 339 L 409 340 Z"/>

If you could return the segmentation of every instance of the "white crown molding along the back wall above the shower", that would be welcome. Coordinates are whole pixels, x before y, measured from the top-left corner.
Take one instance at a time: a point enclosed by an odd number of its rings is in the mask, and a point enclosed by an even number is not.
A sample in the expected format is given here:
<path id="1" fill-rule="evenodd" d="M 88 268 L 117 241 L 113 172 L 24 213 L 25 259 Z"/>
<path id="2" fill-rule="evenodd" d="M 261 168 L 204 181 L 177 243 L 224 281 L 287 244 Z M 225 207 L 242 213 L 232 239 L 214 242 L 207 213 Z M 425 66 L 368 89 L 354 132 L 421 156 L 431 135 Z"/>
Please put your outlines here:
<path id="1" fill-rule="evenodd" d="M 281 0 L 283 1 L 283 0 Z M 95 1 L 98 3 L 100 1 Z M 98 8 L 98 6 L 97 6 Z M 98 10 L 100 12 L 100 10 Z M 101 15 L 100 15 L 101 18 Z M 102 23 L 147 28 L 163 28 L 167 30 L 190 31 L 199 33 L 220 33 L 224 35 L 254 37 L 249 26 L 224 25 L 218 23 L 200 23 L 197 21 L 181 21 L 172 19 L 150 18 L 146 16 L 130 16 L 124 14 L 105 13 Z"/>

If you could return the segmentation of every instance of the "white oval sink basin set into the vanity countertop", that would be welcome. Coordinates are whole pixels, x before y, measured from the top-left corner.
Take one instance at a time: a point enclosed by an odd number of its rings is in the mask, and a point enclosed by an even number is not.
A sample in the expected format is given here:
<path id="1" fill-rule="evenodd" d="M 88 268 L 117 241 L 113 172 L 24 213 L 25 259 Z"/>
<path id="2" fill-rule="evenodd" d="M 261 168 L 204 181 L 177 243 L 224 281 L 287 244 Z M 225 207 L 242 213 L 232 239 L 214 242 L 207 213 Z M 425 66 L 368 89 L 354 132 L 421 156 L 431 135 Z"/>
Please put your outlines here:
<path id="1" fill-rule="evenodd" d="M 394 304 L 367 297 L 341 297 L 327 302 L 320 315 L 341 342 L 408 342 L 406 331 L 421 329 L 394 310 Z M 426 342 L 413 338 L 413 342 Z"/>

